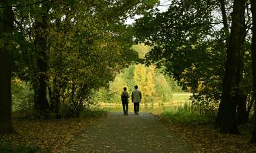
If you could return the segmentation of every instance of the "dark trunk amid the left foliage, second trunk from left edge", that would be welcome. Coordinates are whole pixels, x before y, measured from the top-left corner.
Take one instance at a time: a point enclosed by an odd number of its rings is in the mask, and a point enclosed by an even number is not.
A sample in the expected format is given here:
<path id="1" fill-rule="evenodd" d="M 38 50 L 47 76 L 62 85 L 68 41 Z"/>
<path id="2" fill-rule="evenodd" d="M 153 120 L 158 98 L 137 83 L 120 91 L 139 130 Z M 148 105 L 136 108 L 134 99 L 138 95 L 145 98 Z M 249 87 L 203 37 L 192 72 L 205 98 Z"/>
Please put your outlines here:
<path id="1" fill-rule="evenodd" d="M 35 65 L 33 88 L 35 91 L 35 109 L 38 116 L 48 118 L 50 105 L 47 99 L 47 16 L 49 2 L 42 7 L 42 20 L 35 22 L 35 46 L 38 49 L 37 65 Z"/>

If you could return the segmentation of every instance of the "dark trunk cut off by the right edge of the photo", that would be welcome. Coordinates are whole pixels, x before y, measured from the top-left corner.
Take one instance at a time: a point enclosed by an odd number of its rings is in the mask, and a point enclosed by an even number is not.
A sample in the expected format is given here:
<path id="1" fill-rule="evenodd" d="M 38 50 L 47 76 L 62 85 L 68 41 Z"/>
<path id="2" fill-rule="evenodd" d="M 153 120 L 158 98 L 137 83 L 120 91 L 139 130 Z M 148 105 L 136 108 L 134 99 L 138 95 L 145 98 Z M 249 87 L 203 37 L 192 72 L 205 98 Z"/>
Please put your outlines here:
<path id="1" fill-rule="evenodd" d="M 251 43 L 252 69 L 253 69 L 253 94 L 256 95 L 256 1 L 251 0 L 251 12 L 253 14 L 253 38 Z M 251 142 L 256 143 L 256 100 L 255 100 L 255 126 Z"/>

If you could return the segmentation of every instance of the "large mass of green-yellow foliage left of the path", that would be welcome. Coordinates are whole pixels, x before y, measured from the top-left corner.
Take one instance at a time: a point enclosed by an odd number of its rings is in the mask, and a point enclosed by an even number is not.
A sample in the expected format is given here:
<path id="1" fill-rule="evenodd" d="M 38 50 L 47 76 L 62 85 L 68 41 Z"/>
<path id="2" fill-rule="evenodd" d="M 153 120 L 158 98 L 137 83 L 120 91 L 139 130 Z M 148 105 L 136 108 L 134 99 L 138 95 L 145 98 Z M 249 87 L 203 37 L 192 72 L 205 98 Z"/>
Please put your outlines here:
<path id="1" fill-rule="evenodd" d="M 156 3 L 14 1 L 17 51 L 12 54 L 12 75 L 32 85 L 35 104 L 47 88 L 47 97 L 42 97 L 51 112 L 59 116 L 60 106 L 68 105 L 68 114 L 79 116 L 92 104 L 93 90 L 108 86 L 121 69 L 137 61 L 132 31 L 124 22 Z M 42 111 L 48 112 L 45 108 Z"/>

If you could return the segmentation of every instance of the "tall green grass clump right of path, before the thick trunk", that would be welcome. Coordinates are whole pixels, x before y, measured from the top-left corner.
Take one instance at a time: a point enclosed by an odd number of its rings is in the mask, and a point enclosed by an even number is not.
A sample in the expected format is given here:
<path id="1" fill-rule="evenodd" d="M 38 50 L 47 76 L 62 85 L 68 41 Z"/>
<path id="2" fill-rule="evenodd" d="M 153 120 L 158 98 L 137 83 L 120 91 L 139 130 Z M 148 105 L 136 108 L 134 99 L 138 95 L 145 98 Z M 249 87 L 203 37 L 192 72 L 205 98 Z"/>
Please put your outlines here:
<path id="1" fill-rule="evenodd" d="M 185 103 L 173 111 L 165 111 L 160 115 L 171 122 L 181 124 L 209 124 L 214 122 L 216 114 Z"/>

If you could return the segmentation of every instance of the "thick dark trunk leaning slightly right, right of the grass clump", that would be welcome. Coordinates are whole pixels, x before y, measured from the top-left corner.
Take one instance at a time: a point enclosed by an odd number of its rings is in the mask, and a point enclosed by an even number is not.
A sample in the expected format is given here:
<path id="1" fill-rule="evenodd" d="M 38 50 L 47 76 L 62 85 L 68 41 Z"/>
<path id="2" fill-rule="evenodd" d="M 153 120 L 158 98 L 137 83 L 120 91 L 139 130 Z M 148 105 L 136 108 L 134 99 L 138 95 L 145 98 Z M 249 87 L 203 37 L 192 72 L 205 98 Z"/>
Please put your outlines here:
<path id="1" fill-rule="evenodd" d="M 232 25 L 227 48 L 227 61 L 223 80 L 221 103 L 216 118 L 216 129 L 224 133 L 238 134 L 236 99 L 240 84 L 240 50 L 244 39 L 245 0 L 233 1 Z"/>

